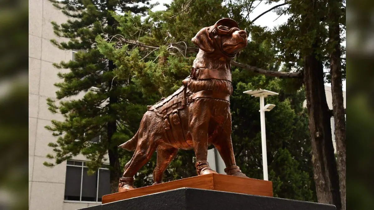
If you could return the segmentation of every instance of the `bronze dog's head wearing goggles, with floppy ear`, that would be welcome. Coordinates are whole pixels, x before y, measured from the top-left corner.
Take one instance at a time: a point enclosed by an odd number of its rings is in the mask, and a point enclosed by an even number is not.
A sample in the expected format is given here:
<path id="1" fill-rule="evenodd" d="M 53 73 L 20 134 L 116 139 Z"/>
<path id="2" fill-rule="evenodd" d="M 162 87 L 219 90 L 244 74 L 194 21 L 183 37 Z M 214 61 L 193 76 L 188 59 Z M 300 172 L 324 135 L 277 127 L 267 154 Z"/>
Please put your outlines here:
<path id="1" fill-rule="evenodd" d="M 235 58 L 247 46 L 247 33 L 233 19 L 223 18 L 200 30 L 191 41 L 206 53 Z"/>

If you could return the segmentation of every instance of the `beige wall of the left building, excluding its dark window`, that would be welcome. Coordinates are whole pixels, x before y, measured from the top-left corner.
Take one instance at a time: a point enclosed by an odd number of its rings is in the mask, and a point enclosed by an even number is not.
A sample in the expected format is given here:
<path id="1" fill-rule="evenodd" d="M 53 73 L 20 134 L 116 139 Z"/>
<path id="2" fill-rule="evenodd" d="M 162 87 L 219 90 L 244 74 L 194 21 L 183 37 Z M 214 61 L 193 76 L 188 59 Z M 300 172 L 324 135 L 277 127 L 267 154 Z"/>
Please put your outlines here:
<path id="1" fill-rule="evenodd" d="M 68 61 L 71 51 L 59 50 L 50 43 L 54 38 L 51 21 L 66 22 L 67 17 L 53 7 L 48 0 L 29 0 L 29 209 L 30 210 L 70 210 L 97 204 L 64 202 L 66 163 L 52 169 L 43 166 L 45 157 L 52 149 L 47 143 L 56 140 L 44 127 L 50 120 L 62 120 L 59 114 L 52 114 L 47 109 L 46 99 L 55 98 L 59 82 L 59 70 L 53 62 Z M 66 71 L 66 70 L 65 70 Z M 78 96 L 79 97 L 79 96 Z M 74 160 L 85 160 L 83 156 Z"/>

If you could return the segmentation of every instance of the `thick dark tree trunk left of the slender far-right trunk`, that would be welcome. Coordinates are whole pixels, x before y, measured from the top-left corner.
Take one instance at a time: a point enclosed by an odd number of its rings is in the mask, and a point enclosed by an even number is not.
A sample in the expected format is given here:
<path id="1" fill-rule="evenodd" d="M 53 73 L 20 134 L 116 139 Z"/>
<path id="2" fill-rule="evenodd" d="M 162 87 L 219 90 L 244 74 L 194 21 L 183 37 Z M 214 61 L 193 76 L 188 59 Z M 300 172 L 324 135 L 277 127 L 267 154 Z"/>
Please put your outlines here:
<path id="1" fill-rule="evenodd" d="M 316 49 L 317 41 L 312 46 Z M 319 203 L 333 204 L 340 210 L 338 172 L 332 145 L 331 124 L 325 95 L 322 62 L 313 50 L 304 57 L 304 86 L 312 143 L 312 164 Z"/>

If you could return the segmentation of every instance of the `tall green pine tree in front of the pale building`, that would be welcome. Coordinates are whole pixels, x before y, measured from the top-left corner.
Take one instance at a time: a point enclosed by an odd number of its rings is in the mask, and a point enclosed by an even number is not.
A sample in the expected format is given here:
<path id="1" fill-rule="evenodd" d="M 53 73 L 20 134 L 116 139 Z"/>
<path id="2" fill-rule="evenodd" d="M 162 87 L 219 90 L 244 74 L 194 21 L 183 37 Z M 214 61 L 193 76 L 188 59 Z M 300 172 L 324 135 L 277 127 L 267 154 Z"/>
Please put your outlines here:
<path id="1" fill-rule="evenodd" d="M 117 146 L 132 136 L 145 111 L 147 98 L 129 84 L 126 78 L 116 78 L 113 60 L 107 59 L 96 49 L 95 38 L 101 35 L 109 41 L 118 33 L 118 22 L 113 12 L 144 14 L 152 5 L 147 0 L 50 0 L 70 19 L 63 24 L 52 22 L 54 33 L 69 41 L 51 42 L 62 50 L 75 50 L 74 61 L 53 64 L 57 69 L 68 69 L 58 73 L 63 79 L 56 83 L 59 88 L 56 100 L 47 99 L 49 110 L 61 113 L 65 121 L 52 120 L 47 130 L 57 136 L 49 143 L 55 154 L 47 157 L 55 163 L 52 167 L 78 154 L 88 158 L 89 172 L 97 170 L 107 154 L 110 163 L 111 191 L 116 192 L 121 177 Z M 83 93 L 83 98 L 71 99 Z M 134 132 L 135 131 L 135 132 Z"/>

